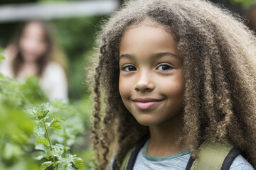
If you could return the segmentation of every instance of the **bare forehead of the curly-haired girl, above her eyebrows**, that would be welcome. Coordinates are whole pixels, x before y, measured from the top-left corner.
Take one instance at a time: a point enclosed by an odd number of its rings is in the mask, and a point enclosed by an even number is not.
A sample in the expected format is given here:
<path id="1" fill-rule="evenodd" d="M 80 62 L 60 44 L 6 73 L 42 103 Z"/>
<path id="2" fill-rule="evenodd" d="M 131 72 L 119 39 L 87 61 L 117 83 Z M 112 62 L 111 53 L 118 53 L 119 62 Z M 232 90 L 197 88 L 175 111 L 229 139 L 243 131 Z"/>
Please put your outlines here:
<path id="1" fill-rule="evenodd" d="M 140 25 L 127 30 L 120 42 L 119 55 L 152 56 L 159 53 L 178 55 L 174 36 L 166 30 Z"/>

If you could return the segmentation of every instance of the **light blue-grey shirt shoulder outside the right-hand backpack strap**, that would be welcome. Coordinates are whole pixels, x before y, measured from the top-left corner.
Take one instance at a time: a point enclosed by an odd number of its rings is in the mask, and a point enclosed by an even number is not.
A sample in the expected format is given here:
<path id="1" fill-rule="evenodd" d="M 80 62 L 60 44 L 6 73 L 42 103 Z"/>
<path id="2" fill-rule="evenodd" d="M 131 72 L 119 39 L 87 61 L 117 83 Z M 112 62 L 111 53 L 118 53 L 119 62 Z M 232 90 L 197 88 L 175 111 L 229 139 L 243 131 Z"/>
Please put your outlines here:
<path id="1" fill-rule="evenodd" d="M 242 157 L 241 154 L 239 154 L 237 157 L 235 157 L 233 163 L 230 166 L 230 170 L 253 170 L 254 168 L 252 165 L 247 162 L 247 160 Z"/>

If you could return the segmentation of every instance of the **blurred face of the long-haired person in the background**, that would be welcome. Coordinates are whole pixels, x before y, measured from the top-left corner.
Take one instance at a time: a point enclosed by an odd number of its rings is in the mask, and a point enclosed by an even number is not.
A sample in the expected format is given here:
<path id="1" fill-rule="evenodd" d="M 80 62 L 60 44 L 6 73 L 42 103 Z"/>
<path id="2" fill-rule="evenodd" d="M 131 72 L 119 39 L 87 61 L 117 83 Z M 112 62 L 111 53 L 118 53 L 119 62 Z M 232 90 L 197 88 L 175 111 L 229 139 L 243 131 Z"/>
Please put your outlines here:
<path id="1" fill-rule="evenodd" d="M 46 52 L 45 32 L 40 23 L 28 23 L 23 29 L 19 46 L 26 62 L 36 61 Z"/>

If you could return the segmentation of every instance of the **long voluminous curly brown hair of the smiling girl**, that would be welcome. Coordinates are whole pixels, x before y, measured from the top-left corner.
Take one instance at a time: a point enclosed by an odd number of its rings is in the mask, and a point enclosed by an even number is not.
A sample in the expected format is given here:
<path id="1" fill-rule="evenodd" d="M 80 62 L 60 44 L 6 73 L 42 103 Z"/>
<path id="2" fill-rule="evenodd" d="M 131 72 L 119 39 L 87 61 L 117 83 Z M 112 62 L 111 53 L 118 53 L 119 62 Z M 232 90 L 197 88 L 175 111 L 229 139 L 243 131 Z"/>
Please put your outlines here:
<path id="1" fill-rule="evenodd" d="M 97 169 L 107 169 L 113 157 L 119 169 L 128 149 L 149 135 L 149 129 L 127 111 L 118 90 L 120 40 L 127 29 L 145 20 L 168 29 L 183 57 L 182 137 L 191 155 L 197 157 L 202 140 L 230 142 L 256 168 L 256 38 L 252 31 L 241 18 L 209 1 L 137 0 L 127 1 L 107 19 L 97 37 L 100 57 L 92 125 Z"/>

